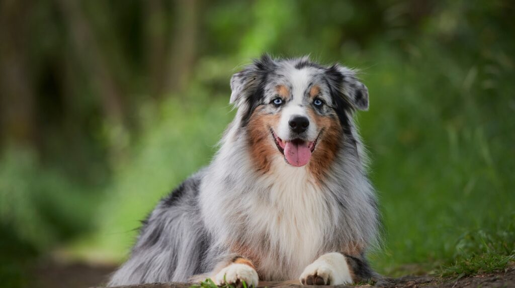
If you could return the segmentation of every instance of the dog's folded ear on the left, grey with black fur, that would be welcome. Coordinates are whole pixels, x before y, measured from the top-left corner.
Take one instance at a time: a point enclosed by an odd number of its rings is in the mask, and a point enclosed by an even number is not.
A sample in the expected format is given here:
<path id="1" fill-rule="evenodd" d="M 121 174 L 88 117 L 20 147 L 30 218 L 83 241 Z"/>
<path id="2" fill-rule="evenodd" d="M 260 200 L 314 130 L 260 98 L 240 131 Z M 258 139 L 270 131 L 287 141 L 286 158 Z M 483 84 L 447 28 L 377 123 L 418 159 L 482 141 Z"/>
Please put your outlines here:
<path id="1" fill-rule="evenodd" d="M 255 98 L 260 84 L 264 84 L 267 75 L 273 70 L 276 63 L 270 56 L 263 54 L 260 59 L 254 59 L 253 63 L 231 77 L 230 104 L 236 107 L 248 102 L 249 97 Z M 254 97 L 253 97 L 254 96 Z"/>

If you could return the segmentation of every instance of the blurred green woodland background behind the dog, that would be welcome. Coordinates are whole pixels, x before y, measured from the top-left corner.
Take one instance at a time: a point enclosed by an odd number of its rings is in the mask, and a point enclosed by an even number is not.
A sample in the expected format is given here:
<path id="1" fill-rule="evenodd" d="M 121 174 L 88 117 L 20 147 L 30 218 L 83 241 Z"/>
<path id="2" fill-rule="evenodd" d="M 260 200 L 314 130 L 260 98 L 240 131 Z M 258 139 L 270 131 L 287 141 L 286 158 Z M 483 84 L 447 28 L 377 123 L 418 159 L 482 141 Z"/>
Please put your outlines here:
<path id="1" fill-rule="evenodd" d="M 207 165 L 252 58 L 361 69 L 386 275 L 515 255 L 509 0 L 0 1 L 2 287 L 99 284 Z"/>

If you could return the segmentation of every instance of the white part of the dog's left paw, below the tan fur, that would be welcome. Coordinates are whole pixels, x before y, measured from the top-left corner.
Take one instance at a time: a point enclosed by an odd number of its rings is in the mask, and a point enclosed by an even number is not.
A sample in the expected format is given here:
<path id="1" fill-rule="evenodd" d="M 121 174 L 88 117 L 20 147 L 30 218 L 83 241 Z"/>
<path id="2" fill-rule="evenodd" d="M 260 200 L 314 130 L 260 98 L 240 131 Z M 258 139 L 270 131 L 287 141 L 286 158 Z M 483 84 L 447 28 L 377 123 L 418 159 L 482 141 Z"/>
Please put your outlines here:
<path id="1" fill-rule="evenodd" d="M 216 285 L 241 284 L 243 281 L 247 287 L 258 286 L 258 273 L 249 265 L 233 263 L 221 269 L 213 279 Z"/>

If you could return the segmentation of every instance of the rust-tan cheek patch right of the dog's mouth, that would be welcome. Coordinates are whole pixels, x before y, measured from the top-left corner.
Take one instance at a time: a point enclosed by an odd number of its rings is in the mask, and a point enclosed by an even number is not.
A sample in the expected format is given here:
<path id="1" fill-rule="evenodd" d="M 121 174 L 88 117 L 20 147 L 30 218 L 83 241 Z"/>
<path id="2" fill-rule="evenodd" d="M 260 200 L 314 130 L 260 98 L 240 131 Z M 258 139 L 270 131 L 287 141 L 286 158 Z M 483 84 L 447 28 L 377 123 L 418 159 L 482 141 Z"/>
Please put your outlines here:
<path id="1" fill-rule="evenodd" d="M 321 182 L 336 157 L 343 132 L 336 116 L 320 116 L 311 109 L 308 113 L 311 119 L 315 120 L 320 131 L 323 130 L 309 163 L 311 173 L 318 182 Z"/>

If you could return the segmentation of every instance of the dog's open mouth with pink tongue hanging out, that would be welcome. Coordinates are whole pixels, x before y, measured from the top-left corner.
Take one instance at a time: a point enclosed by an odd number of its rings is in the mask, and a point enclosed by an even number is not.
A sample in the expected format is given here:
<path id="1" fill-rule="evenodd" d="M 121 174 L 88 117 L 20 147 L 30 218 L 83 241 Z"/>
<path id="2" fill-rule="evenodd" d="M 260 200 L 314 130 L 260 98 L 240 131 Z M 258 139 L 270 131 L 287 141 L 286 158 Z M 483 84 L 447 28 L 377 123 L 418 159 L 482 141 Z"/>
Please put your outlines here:
<path id="1" fill-rule="evenodd" d="M 311 154 L 315 151 L 317 140 L 320 137 L 318 134 L 315 141 L 305 141 L 303 139 L 283 140 L 273 130 L 270 130 L 274 141 L 276 142 L 277 149 L 284 156 L 284 159 L 289 165 L 301 167 L 306 165 L 310 159 Z"/>

